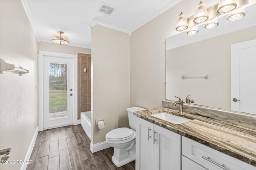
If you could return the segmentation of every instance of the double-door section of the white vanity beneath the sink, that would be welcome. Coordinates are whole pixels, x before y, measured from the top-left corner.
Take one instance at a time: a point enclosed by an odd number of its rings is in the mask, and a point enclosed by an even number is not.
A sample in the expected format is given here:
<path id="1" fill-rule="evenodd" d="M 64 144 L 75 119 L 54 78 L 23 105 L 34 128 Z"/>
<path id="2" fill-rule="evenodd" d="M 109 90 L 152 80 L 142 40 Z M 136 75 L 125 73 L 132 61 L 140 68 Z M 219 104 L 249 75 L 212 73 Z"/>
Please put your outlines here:
<path id="1" fill-rule="evenodd" d="M 180 170 L 181 136 L 136 117 L 136 170 Z"/>

